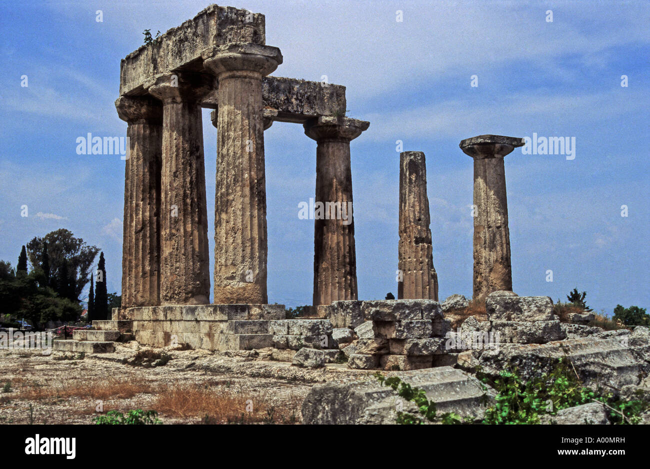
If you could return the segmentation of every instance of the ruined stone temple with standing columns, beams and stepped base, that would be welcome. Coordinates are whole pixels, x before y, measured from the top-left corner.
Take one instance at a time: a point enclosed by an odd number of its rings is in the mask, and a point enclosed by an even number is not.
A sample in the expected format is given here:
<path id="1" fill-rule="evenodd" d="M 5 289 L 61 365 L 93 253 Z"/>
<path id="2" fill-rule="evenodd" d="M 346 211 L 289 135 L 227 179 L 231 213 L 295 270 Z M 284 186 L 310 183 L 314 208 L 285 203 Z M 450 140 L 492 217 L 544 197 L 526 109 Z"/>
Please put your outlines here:
<path id="1" fill-rule="evenodd" d="M 415 370 L 456 361 L 461 349 L 448 344 L 438 302 L 424 153 L 400 155 L 398 299 L 361 301 L 350 142 L 369 123 L 345 116 L 343 86 L 270 75 L 282 62 L 265 43 L 263 15 L 216 5 L 122 60 L 122 308 L 57 349 L 112 351 L 113 341 L 135 338 L 153 347 L 271 349 L 301 366 Z M 212 304 L 201 108 L 213 109 L 217 139 Z M 317 142 L 315 203 L 325 213 L 315 216 L 310 319 L 287 319 L 283 305 L 268 304 L 264 131 L 274 121 L 300 123 Z M 512 290 L 502 157 L 516 146 L 519 139 L 500 136 L 461 142 L 474 157 L 476 298 Z M 508 301 L 506 313 L 525 303 Z M 525 334 L 508 318 L 498 326 Z"/>

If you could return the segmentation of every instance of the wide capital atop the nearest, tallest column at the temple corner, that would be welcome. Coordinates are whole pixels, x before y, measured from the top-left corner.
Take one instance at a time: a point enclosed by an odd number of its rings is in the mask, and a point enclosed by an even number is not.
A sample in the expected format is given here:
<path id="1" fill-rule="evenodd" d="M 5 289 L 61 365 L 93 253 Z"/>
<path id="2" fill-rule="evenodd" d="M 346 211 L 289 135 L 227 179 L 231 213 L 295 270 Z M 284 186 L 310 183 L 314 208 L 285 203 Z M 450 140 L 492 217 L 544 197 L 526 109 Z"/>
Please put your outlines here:
<path id="1" fill-rule="evenodd" d="M 203 66 L 213 71 L 220 79 L 230 75 L 248 72 L 253 78 L 261 79 L 278 68 L 282 54 L 278 47 L 237 42 L 205 49 L 201 53 Z"/>

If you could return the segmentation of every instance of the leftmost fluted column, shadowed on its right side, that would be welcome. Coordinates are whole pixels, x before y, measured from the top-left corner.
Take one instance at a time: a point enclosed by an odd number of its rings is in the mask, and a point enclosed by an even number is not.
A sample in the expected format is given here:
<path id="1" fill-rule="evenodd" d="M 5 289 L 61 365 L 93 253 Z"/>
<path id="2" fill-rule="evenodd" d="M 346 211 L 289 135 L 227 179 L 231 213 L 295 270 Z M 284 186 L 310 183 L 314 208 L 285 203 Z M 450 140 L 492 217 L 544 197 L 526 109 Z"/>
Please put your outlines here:
<path id="1" fill-rule="evenodd" d="M 124 171 L 122 307 L 160 304 L 162 106 L 151 97 L 120 96 L 129 153 Z"/>

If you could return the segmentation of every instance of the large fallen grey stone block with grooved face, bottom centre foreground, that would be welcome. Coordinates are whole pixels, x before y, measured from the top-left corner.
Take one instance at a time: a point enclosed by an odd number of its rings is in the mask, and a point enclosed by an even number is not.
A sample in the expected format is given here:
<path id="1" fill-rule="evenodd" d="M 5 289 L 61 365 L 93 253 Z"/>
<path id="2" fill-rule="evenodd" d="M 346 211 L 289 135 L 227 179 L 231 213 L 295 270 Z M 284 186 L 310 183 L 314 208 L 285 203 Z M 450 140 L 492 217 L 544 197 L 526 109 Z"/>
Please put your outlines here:
<path id="1" fill-rule="evenodd" d="M 427 398 L 436 403 L 438 414 L 456 412 L 464 417 L 482 418 L 485 403 L 495 395 L 491 388 L 484 390 L 472 375 L 449 366 L 389 375 L 424 389 Z M 400 399 L 404 411 L 417 413 L 414 404 L 376 379 L 316 385 L 302 403 L 303 424 L 395 424 Z"/>

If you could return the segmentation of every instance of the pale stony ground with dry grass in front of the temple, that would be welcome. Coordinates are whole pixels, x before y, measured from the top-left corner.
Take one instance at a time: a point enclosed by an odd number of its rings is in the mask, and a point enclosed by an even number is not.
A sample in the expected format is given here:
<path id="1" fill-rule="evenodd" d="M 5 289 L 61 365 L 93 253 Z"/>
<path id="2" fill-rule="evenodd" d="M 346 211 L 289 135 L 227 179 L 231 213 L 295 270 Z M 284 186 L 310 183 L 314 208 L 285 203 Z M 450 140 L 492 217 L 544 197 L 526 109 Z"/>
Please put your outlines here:
<path id="1" fill-rule="evenodd" d="M 298 424 L 313 385 L 368 378 L 344 364 L 309 370 L 273 361 L 271 349 L 211 353 L 135 341 L 93 355 L 0 349 L 0 424 L 93 424 L 131 409 L 155 410 L 162 424 Z"/>

